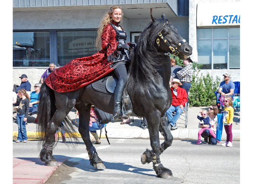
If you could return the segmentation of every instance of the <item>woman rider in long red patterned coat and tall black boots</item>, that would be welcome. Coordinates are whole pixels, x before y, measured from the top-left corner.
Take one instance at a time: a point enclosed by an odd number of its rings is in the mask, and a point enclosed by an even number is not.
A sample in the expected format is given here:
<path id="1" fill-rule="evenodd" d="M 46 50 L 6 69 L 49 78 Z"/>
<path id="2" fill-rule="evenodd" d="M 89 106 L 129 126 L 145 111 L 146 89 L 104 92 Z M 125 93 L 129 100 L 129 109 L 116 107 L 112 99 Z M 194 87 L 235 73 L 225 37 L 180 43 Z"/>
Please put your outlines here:
<path id="1" fill-rule="evenodd" d="M 57 92 L 77 90 L 95 82 L 114 70 L 118 78 L 114 95 L 113 117 L 130 115 L 131 110 L 122 112 L 120 108 L 124 87 L 127 83 L 126 63 L 130 61 L 129 45 L 126 44 L 126 32 L 119 25 L 123 12 L 120 6 L 112 6 L 103 17 L 96 38 L 96 45 L 101 49 L 89 57 L 76 58 L 63 67 L 55 69 L 45 83 Z"/>

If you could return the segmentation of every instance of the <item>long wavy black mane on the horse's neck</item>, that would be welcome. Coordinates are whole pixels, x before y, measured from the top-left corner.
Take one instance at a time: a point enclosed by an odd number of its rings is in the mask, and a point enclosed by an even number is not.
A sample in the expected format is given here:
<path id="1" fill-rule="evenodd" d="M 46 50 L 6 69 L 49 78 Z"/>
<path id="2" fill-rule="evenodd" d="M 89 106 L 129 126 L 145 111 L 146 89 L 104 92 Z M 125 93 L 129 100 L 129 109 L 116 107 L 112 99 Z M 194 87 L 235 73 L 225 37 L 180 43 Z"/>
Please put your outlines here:
<path id="1" fill-rule="evenodd" d="M 156 39 L 158 33 L 163 30 L 166 21 L 168 20 L 163 17 L 151 21 L 141 32 L 137 46 L 131 53 L 130 84 L 136 84 L 137 87 L 143 89 L 147 81 L 156 78 L 156 72 L 160 66 L 159 62 L 164 57 L 163 53 L 158 51 Z"/>

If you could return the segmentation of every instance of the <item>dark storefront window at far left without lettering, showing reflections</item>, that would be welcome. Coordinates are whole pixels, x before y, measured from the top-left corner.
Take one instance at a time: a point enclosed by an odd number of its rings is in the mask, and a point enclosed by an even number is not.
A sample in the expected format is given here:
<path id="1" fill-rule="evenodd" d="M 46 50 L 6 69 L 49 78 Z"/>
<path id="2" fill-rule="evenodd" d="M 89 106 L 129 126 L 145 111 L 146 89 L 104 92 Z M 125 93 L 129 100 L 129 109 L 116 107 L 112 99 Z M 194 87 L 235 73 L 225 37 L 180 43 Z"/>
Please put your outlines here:
<path id="1" fill-rule="evenodd" d="M 49 32 L 14 32 L 13 66 L 48 66 L 50 64 Z"/>

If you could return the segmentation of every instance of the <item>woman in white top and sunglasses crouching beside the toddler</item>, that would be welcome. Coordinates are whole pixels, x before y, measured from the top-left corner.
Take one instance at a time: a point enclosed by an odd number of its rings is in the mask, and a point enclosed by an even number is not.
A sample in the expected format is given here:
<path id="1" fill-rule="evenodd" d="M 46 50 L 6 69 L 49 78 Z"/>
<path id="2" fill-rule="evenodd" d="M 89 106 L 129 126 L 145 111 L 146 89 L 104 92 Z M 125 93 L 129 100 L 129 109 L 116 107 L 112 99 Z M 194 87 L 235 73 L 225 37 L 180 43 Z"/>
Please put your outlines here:
<path id="1" fill-rule="evenodd" d="M 219 112 L 218 107 L 216 104 L 209 106 L 208 109 L 208 116 L 210 119 L 210 124 L 211 124 L 211 129 L 213 130 L 213 132 L 216 134 L 216 128 L 217 128 L 217 124 L 218 124 L 218 117 L 217 117 L 217 113 Z M 210 130 L 208 130 L 209 125 L 203 125 L 203 124 L 198 124 L 199 128 L 205 128 L 203 130 L 203 133 L 201 134 L 201 136 L 204 138 L 204 143 L 205 144 L 217 144 L 217 140 L 216 138 L 214 138 L 214 136 L 211 136 L 210 134 Z"/>

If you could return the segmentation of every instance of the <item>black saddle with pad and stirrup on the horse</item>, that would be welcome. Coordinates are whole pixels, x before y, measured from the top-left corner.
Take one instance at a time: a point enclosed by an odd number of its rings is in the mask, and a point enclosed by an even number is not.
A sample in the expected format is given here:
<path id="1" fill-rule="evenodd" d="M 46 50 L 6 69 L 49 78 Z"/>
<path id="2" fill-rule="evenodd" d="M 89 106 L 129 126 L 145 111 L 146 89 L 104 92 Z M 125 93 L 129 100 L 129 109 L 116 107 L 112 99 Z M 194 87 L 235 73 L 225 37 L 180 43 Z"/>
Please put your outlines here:
<path id="1" fill-rule="evenodd" d="M 129 78 L 129 76 L 128 76 Z M 115 74 L 108 74 L 104 76 L 103 78 L 99 79 L 98 81 L 92 83 L 93 89 L 113 95 L 115 93 L 115 87 L 118 82 L 118 79 L 116 78 Z M 127 86 L 124 88 L 123 98 L 122 98 L 122 110 L 125 112 L 126 110 L 131 109 L 132 110 L 132 101 L 130 100 L 129 95 L 127 94 Z M 132 110 L 133 111 L 133 110 Z M 128 119 L 128 117 L 127 117 Z"/>

